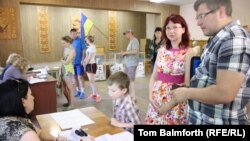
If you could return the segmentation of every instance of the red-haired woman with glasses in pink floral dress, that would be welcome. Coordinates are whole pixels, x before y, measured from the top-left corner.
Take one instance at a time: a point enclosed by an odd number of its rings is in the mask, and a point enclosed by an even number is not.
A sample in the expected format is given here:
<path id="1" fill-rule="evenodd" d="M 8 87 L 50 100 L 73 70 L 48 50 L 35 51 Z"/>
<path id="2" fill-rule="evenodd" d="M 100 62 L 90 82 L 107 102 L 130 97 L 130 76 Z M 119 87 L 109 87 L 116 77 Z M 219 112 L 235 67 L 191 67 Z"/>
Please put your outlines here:
<path id="1" fill-rule="evenodd" d="M 146 124 L 186 124 L 185 104 L 179 104 L 166 113 L 162 107 L 171 99 L 170 90 L 178 85 L 189 85 L 190 61 L 189 31 L 180 15 L 167 17 L 163 26 L 165 43 L 158 49 L 155 67 L 149 82 L 149 108 Z"/>

